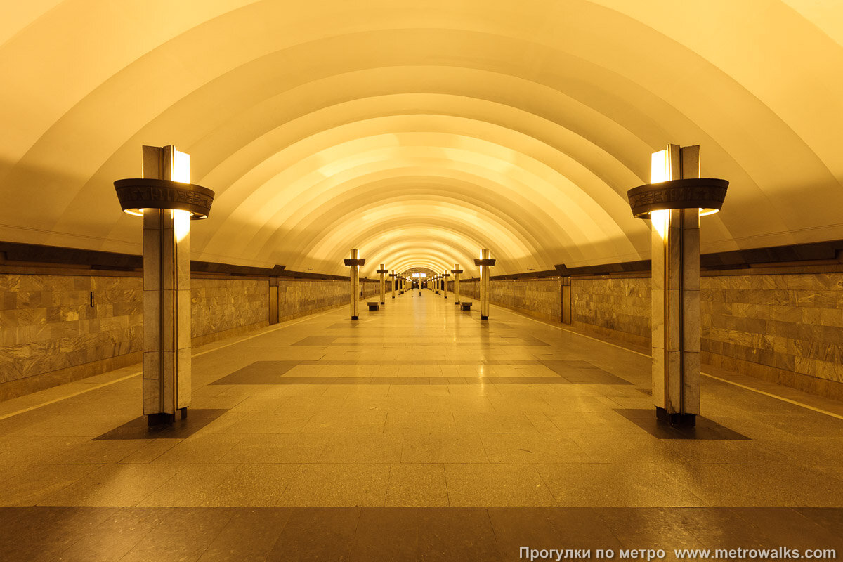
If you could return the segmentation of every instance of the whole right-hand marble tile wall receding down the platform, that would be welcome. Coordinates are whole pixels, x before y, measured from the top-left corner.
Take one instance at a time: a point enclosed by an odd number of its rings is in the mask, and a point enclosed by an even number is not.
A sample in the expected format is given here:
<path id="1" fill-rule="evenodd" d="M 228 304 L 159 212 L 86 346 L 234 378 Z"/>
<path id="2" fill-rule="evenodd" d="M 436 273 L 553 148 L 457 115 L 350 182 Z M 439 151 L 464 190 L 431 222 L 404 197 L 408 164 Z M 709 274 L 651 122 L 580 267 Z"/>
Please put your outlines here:
<path id="1" fill-rule="evenodd" d="M 466 298 L 478 284 L 463 281 Z M 491 281 L 491 302 L 556 315 L 561 286 L 549 280 Z M 572 325 L 650 345 L 650 278 L 574 277 Z M 558 318 L 553 318 L 558 321 Z M 703 363 L 843 399 L 843 272 L 709 273 L 701 278 Z"/>

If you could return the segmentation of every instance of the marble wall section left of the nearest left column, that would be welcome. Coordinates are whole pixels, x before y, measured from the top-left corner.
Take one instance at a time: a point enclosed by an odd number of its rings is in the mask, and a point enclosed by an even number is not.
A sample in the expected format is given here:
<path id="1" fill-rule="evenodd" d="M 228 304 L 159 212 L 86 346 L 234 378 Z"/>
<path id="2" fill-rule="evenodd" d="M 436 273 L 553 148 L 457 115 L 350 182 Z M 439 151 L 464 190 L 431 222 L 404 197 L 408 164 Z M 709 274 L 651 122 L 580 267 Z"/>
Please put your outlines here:
<path id="1" fill-rule="evenodd" d="M 142 305 L 140 277 L 0 274 L 0 385 L 142 351 Z"/>

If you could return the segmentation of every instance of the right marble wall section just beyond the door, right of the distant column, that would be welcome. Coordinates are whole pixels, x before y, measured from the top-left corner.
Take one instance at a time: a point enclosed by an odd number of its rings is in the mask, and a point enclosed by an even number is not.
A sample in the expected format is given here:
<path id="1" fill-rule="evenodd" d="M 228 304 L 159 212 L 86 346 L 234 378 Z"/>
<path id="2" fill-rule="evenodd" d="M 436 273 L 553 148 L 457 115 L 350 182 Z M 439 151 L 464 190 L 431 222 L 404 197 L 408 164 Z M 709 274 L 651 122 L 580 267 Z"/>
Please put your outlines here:
<path id="1" fill-rule="evenodd" d="M 489 292 L 489 302 L 493 304 L 554 322 L 561 320 L 562 285 L 559 277 L 491 280 Z"/>

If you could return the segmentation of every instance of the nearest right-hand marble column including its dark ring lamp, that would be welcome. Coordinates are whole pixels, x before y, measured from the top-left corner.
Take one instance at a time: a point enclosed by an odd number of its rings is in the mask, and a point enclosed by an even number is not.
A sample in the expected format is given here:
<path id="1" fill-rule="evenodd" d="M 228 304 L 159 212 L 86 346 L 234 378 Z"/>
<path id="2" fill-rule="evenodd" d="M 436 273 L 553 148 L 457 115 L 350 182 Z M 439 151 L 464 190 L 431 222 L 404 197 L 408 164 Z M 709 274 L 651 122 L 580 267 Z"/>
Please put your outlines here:
<path id="1" fill-rule="evenodd" d="M 700 147 L 672 144 L 652 154 L 652 183 L 627 192 L 632 214 L 652 220 L 652 400 L 679 426 L 700 414 L 700 217 L 729 185 L 700 175 Z"/>

